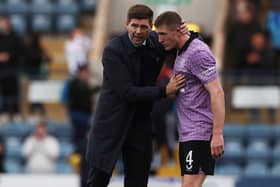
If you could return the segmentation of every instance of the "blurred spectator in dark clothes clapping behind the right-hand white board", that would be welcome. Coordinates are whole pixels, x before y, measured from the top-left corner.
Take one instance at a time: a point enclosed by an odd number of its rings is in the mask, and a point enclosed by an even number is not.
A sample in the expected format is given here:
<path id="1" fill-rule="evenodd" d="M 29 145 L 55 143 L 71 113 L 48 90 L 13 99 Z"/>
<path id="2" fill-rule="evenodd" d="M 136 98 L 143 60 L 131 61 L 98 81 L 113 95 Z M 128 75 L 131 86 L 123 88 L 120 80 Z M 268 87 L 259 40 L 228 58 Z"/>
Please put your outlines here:
<path id="1" fill-rule="evenodd" d="M 249 85 L 276 84 L 276 63 L 268 35 L 263 31 L 252 34 L 250 48 L 246 52 L 243 76 Z M 275 122 L 275 109 L 269 109 L 269 122 Z M 251 121 L 259 122 L 259 109 L 251 110 Z"/>

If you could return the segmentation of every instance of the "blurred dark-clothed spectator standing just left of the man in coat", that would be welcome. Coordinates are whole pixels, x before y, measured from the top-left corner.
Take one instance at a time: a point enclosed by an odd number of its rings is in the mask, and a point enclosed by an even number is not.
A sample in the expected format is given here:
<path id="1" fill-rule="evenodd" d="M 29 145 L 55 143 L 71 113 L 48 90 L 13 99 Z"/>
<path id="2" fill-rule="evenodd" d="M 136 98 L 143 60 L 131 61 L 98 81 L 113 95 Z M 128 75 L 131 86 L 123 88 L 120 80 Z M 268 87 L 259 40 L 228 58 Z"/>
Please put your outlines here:
<path id="1" fill-rule="evenodd" d="M 77 75 L 70 80 L 68 86 L 68 111 L 73 126 L 73 142 L 77 148 L 90 127 L 93 94 L 99 87 L 90 86 L 90 71 L 86 63 L 78 67 Z"/>

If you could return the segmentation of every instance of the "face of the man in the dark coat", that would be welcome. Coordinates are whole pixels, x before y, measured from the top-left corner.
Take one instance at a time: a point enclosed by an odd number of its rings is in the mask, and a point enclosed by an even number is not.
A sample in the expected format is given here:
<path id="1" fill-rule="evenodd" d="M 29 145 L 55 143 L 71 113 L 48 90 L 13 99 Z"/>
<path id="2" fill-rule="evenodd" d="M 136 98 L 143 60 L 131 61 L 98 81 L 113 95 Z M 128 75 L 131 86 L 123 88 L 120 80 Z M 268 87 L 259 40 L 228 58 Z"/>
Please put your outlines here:
<path id="1" fill-rule="evenodd" d="M 149 19 L 131 19 L 126 29 L 134 45 L 141 45 L 148 38 L 151 25 Z"/>

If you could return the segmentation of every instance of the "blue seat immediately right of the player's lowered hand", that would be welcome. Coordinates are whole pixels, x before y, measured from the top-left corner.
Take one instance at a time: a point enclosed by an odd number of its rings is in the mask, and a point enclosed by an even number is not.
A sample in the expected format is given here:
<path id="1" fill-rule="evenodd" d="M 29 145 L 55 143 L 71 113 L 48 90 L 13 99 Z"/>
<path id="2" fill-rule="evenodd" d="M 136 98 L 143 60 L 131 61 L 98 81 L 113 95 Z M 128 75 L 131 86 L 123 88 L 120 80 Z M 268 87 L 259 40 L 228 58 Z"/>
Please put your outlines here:
<path id="1" fill-rule="evenodd" d="M 225 154 L 221 158 L 223 163 L 242 164 L 245 160 L 245 149 L 240 140 L 232 139 L 225 142 Z"/>

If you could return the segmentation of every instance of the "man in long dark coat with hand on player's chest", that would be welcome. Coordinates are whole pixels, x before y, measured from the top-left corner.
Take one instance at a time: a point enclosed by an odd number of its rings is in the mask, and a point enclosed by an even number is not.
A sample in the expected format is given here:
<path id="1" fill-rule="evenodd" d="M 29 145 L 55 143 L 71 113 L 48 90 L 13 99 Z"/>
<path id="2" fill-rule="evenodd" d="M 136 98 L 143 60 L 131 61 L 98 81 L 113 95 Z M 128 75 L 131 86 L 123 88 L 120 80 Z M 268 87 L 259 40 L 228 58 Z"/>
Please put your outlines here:
<path id="1" fill-rule="evenodd" d="M 153 11 L 145 5 L 128 10 L 127 33 L 104 49 L 103 85 L 90 131 L 88 186 L 106 187 L 122 153 L 124 186 L 146 187 L 152 159 L 153 102 L 174 96 L 184 86 L 173 76 L 166 87 L 156 87 L 164 50 L 151 33 Z"/>

